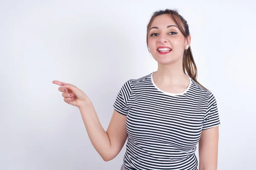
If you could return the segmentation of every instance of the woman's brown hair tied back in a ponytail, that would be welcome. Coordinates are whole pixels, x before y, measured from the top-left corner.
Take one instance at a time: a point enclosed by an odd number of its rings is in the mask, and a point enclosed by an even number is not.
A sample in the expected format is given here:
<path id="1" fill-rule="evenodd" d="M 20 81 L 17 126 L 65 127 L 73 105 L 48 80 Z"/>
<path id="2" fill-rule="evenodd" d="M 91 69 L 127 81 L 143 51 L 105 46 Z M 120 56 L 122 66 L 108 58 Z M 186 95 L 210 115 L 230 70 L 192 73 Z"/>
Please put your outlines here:
<path id="1" fill-rule="evenodd" d="M 155 11 L 147 26 L 147 46 L 148 46 L 148 31 L 150 29 L 149 27 L 151 26 L 151 23 L 153 22 L 154 18 L 162 14 L 169 14 L 172 17 L 172 20 L 174 20 L 175 24 L 177 25 L 180 32 L 184 35 L 185 38 L 187 38 L 190 34 L 187 21 L 178 13 L 176 9 L 174 10 L 166 9 L 166 10 Z M 185 28 L 185 30 L 183 30 L 183 27 Z M 149 51 L 149 48 L 148 48 L 148 51 Z M 183 53 L 183 72 L 186 74 L 186 71 L 189 77 L 191 77 L 195 82 L 201 85 L 197 81 L 197 67 L 195 65 L 195 61 L 194 61 L 190 46 L 187 50 L 184 50 L 184 53 Z M 201 87 L 208 90 L 202 85 Z"/>

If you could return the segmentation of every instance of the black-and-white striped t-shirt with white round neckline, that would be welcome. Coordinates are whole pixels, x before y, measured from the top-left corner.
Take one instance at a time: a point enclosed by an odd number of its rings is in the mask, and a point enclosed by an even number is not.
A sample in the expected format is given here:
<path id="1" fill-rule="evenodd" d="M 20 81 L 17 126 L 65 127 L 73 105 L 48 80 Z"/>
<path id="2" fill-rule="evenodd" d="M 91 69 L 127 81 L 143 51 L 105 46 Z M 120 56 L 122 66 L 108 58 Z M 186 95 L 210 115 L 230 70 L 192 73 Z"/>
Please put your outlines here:
<path id="1" fill-rule="evenodd" d="M 154 84 L 153 73 L 125 82 L 113 105 L 127 116 L 124 166 L 197 170 L 195 150 L 202 130 L 220 125 L 215 97 L 190 77 L 185 91 L 167 93 Z"/>

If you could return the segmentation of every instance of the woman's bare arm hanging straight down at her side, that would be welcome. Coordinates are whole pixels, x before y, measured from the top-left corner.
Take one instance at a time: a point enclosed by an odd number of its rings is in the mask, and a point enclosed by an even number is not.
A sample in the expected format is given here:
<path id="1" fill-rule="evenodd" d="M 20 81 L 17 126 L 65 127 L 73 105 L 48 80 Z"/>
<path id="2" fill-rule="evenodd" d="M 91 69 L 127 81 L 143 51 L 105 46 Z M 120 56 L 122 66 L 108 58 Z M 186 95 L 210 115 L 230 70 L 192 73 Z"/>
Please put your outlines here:
<path id="1" fill-rule="evenodd" d="M 217 170 L 219 126 L 202 130 L 199 140 L 199 170 Z"/>

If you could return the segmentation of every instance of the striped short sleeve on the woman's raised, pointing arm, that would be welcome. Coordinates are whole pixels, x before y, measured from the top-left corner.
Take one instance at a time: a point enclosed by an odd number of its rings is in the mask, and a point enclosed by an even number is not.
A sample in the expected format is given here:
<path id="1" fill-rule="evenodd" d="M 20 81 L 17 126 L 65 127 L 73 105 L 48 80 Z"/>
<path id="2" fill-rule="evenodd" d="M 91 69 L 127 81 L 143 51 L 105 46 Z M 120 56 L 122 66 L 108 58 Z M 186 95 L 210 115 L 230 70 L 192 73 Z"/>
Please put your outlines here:
<path id="1" fill-rule="evenodd" d="M 120 114 L 127 116 L 128 107 L 127 102 L 131 96 L 131 80 L 125 82 L 116 96 L 113 108 Z"/>

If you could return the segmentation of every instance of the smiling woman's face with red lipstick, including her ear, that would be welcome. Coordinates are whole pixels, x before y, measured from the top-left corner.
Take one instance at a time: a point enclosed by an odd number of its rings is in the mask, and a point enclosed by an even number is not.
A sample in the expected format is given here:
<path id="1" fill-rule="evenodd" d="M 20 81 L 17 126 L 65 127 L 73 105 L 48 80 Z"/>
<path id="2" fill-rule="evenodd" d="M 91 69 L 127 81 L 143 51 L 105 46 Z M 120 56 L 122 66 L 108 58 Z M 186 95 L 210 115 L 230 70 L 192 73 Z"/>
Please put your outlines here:
<path id="1" fill-rule="evenodd" d="M 190 45 L 190 35 L 186 39 L 170 15 L 155 17 L 149 29 L 148 47 L 157 62 L 170 64 L 182 61 L 185 45 Z"/>

